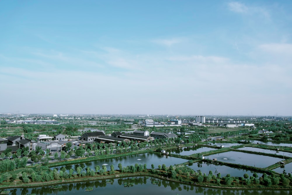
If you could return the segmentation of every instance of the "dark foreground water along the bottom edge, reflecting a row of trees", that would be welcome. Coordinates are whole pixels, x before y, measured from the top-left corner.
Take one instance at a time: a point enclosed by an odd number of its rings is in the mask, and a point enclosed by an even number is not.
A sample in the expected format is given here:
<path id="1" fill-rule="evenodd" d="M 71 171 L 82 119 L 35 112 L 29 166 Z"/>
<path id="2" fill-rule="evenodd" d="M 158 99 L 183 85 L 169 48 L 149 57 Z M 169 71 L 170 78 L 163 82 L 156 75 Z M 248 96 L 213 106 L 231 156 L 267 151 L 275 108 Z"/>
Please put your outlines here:
<path id="1" fill-rule="evenodd" d="M 160 195 L 288 195 L 289 190 L 237 190 L 237 189 L 218 189 L 218 188 L 204 188 L 195 187 L 187 184 L 180 184 L 178 182 L 171 182 L 168 180 L 159 180 L 157 185 L 152 185 L 151 180 L 154 178 L 147 177 L 128 177 L 113 179 L 112 183 L 106 183 L 106 180 L 97 180 L 91 182 L 77 182 L 62 184 L 60 189 L 51 189 L 51 186 L 41 186 L 34 188 L 11 188 L 7 189 L 11 191 L 12 195 L 26 195 L 26 194 L 41 194 L 41 195 L 75 195 L 75 194 L 98 194 L 98 195 L 149 195 L 149 194 L 160 194 Z M 124 187 L 124 183 L 132 182 L 133 187 Z M 93 191 L 85 191 L 86 188 L 92 187 Z"/>

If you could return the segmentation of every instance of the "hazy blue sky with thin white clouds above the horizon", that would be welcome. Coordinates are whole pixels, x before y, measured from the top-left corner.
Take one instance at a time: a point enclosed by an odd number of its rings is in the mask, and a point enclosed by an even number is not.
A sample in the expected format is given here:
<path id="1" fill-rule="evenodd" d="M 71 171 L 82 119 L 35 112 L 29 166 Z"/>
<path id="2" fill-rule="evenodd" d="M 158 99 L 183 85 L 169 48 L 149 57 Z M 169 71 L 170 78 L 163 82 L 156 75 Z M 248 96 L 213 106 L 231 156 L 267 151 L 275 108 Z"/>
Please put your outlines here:
<path id="1" fill-rule="evenodd" d="M 291 1 L 0 1 L 0 113 L 292 115 Z"/>

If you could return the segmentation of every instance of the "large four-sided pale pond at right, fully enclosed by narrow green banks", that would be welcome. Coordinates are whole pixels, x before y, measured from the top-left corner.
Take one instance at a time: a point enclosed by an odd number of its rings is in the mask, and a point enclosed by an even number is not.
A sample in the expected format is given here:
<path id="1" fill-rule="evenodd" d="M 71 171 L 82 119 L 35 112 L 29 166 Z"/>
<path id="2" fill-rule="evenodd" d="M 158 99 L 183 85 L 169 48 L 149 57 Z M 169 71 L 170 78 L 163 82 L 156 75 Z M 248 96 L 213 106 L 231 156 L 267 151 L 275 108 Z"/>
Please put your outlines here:
<path id="1" fill-rule="evenodd" d="M 282 160 L 281 158 L 275 158 L 275 157 L 258 155 L 258 154 L 243 153 L 243 152 L 237 152 L 237 151 L 228 151 L 228 152 L 222 152 L 222 153 L 217 153 L 217 154 L 211 154 L 211 155 L 205 156 L 205 158 L 208 158 L 208 159 L 216 158 L 217 161 L 255 166 L 259 168 L 268 167 Z"/>

